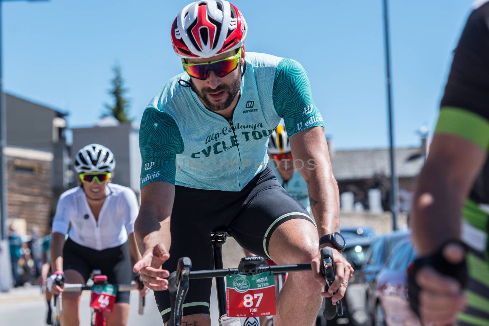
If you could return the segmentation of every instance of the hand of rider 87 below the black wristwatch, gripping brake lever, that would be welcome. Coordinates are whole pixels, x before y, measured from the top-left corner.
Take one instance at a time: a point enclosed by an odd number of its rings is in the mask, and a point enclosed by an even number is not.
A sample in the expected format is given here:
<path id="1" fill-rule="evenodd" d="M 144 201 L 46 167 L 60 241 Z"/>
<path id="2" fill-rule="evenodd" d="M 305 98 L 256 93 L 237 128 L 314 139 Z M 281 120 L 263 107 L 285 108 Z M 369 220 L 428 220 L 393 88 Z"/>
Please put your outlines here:
<path id="1" fill-rule="evenodd" d="M 324 247 L 330 247 L 328 244 L 323 244 L 319 246 L 319 249 Z M 333 260 L 336 270 L 336 275 L 334 276 L 334 282 L 330 285 L 328 291 L 321 293 L 322 297 L 330 298 L 333 297 L 333 304 L 343 298 L 345 295 L 346 287 L 348 286 L 348 281 L 353 276 L 352 265 L 343 257 L 343 255 L 333 247 L 330 247 L 333 251 Z M 314 279 L 321 286 L 326 286 L 326 281 L 321 274 L 321 253 L 318 253 L 316 257 L 311 261 L 312 272 L 314 273 Z M 333 293 L 337 291 L 334 295 Z"/>

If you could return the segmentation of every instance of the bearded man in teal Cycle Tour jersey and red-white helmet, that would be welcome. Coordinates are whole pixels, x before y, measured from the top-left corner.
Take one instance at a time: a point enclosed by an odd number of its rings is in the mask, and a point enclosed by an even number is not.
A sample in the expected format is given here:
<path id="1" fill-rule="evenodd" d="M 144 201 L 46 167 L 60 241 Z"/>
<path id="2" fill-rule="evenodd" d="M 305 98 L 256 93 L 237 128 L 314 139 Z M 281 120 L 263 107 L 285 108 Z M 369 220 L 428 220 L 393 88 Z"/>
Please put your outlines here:
<path id="1" fill-rule="evenodd" d="M 141 270 L 148 287 L 166 290 L 165 278 L 180 257 L 190 257 L 193 269 L 213 268 L 209 235 L 226 228 L 258 256 L 279 264 L 312 261 L 314 273 L 289 277 L 274 318 L 275 326 L 311 325 L 325 285 L 319 243 L 333 247 L 333 302 L 353 273 L 342 242 L 334 241 L 341 236 L 331 235 L 339 231 L 339 202 L 323 119 L 304 68 L 290 59 L 245 54 L 246 33 L 243 15 L 224 0 L 190 3 L 172 24 L 185 72 L 156 94 L 141 121 L 141 208 L 134 228 L 143 257 L 133 270 Z M 315 220 L 267 167 L 268 136 L 281 118 L 294 158 L 316 165 L 301 170 Z M 192 280 L 190 288 L 183 321 L 210 325 L 211 281 Z M 168 291 L 155 297 L 166 323 Z"/>

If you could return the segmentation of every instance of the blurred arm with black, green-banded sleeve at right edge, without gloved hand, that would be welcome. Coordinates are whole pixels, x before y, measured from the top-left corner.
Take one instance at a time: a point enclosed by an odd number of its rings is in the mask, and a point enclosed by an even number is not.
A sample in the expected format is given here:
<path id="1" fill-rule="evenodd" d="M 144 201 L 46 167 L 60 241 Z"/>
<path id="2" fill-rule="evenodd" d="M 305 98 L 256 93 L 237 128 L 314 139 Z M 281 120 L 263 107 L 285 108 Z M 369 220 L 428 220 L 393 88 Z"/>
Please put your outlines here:
<path id="1" fill-rule="evenodd" d="M 460 238 L 462 206 L 489 148 L 489 6 L 469 16 L 455 49 L 440 116 L 413 202 L 420 255 Z"/>

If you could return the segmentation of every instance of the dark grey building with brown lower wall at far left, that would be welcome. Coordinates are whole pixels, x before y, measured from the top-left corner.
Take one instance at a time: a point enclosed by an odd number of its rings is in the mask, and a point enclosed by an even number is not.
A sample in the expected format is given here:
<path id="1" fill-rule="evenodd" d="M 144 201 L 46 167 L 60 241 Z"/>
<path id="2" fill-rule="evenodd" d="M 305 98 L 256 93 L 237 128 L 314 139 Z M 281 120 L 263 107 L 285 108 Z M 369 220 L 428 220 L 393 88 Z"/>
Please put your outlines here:
<path id="1" fill-rule="evenodd" d="M 22 234 L 39 228 L 44 235 L 71 177 L 66 113 L 12 94 L 5 108 L 7 220 L 24 225 Z"/>

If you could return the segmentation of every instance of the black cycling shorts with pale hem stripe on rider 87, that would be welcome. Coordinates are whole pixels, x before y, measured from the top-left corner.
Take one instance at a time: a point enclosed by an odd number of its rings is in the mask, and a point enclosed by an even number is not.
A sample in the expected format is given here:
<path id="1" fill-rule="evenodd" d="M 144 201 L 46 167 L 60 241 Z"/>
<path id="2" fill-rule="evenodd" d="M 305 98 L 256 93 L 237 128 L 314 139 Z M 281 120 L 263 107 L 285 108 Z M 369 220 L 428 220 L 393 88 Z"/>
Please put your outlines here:
<path id="1" fill-rule="evenodd" d="M 226 229 L 247 251 L 269 258 L 268 242 L 285 221 L 303 218 L 314 223 L 307 210 L 282 188 L 269 168 L 257 174 L 242 191 L 201 190 L 175 186 L 170 232 L 170 259 L 163 269 L 177 268 L 178 259 L 189 257 L 192 269 L 214 269 L 211 231 Z M 184 315 L 210 314 L 212 279 L 190 281 Z M 168 291 L 155 291 L 156 304 L 166 323 L 170 319 Z"/>

